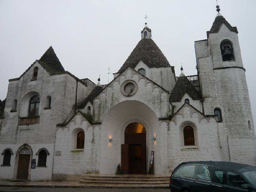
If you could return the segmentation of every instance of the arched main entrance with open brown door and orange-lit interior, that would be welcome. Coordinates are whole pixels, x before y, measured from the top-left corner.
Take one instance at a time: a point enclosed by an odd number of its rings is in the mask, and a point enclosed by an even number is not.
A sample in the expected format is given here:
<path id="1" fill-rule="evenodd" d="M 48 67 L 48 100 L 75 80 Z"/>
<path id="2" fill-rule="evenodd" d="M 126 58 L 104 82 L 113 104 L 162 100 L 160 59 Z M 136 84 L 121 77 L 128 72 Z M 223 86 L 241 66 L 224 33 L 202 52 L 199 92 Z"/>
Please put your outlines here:
<path id="1" fill-rule="evenodd" d="M 126 127 L 121 154 L 124 174 L 147 174 L 146 129 L 141 123 L 130 123 Z"/>

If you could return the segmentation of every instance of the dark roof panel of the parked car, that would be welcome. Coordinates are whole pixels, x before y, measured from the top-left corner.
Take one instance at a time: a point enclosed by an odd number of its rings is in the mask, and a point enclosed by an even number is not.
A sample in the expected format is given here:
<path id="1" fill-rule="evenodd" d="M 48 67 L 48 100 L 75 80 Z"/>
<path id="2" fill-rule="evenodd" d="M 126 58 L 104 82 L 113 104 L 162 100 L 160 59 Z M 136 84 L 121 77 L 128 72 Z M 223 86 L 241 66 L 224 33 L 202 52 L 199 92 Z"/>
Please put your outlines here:
<path id="1" fill-rule="evenodd" d="M 208 169 L 210 170 L 213 170 L 213 169 L 230 170 L 230 171 L 236 171 L 241 173 L 256 170 L 255 166 L 245 165 L 241 163 L 226 162 L 226 161 L 188 161 L 188 162 L 181 163 L 180 165 L 192 165 L 192 164 L 207 165 Z"/>

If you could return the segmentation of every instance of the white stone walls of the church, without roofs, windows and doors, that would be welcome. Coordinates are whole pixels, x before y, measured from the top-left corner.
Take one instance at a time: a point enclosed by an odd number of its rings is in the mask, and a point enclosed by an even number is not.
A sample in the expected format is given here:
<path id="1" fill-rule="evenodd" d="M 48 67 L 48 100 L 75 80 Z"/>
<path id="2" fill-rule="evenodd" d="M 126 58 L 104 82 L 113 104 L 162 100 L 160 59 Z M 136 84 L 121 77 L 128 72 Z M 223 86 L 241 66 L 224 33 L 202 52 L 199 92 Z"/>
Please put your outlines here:
<path id="1" fill-rule="evenodd" d="M 146 28 L 144 31 L 149 32 Z M 151 30 L 147 38 L 151 38 Z M 232 42 L 235 60 L 223 62 L 220 44 L 225 39 Z M 232 161 L 256 166 L 256 137 L 237 33 L 222 24 L 218 32 L 208 33 L 208 39 L 195 42 L 195 52 L 200 99 L 184 93 L 179 101 L 170 102 L 176 84 L 171 66 L 149 68 L 139 61 L 134 69 L 116 73 L 93 102 L 88 100 L 78 109 L 77 104 L 86 101 L 95 84 L 66 72 L 52 75 L 39 61 L 34 62 L 20 78 L 9 82 L 4 117 L 0 119 L 0 179 L 17 179 L 24 147 L 30 152 L 31 181 L 115 174 L 130 123 L 145 127 L 147 173 L 151 151 L 154 174 L 169 175 L 184 161 Z M 32 79 L 35 67 L 36 80 Z M 138 73 L 141 68 L 145 76 Z M 134 84 L 131 94 L 124 91 L 129 83 Z M 34 95 L 40 97 L 39 122 L 21 124 L 22 117 L 28 117 Z M 51 96 L 50 108 L 47 96 Z M 17 108 L 13 110 L 15 99 Z M 221 110 L 222 121 L 217 121 L 215 108 Z M 184 145 L 186 126 L 193 128 L 193 145 Z M 84 133 L 83 148 L 77 148 L 80 132 Z M 47 151 L 46 166 L 37 166 L 42 149 Z M 6 150 L 12 153 L 10 165 L 4 165 Z M 32 159 L 35 168 L 31 168 Z"/>

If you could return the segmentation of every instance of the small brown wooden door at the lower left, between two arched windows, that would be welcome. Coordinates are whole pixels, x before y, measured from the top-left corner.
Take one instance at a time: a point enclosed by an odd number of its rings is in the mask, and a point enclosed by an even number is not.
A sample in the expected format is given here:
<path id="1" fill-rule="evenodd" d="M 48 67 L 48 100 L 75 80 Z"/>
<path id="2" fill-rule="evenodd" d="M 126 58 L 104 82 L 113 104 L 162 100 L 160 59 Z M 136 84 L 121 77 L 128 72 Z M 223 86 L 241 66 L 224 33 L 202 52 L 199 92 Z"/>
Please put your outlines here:
<path id="1" fill-rule="evenodd" d="M 19 155 L 17 179 L 28 180 L 29 161 L 30 155 Z"/>

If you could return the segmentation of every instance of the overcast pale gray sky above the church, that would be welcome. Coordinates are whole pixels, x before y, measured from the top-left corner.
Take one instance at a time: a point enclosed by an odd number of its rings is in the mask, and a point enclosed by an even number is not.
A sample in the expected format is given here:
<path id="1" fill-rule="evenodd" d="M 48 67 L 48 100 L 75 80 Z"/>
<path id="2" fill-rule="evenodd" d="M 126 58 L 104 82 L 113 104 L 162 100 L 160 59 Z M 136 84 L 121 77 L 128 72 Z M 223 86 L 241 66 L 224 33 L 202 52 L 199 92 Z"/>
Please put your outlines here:
<path id="1" fill-rule="evenodd" d="M 237 26 L 256 121 L 256 0 L 218 0 Z M 147 14 L 152 39 L 180 74 L 196 75 L 194 42 L 206 39 L 216 0 L 0 0 L 0 99 L 8 79 L 19 77 L 52 46 L 66 71 L 108 83 L 141 39 Z M 109 75 L 109 80 L 113 75 Z"/>

